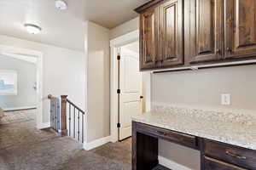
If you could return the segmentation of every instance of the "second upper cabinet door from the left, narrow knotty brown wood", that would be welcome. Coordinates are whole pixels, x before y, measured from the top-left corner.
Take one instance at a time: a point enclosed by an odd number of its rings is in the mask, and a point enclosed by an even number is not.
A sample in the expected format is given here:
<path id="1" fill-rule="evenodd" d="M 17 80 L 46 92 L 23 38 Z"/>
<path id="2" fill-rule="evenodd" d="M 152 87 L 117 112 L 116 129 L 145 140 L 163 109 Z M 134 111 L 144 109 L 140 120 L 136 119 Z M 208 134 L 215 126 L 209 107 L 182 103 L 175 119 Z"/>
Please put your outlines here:
<path id="1" fill-rule="evenodd" d="M 168 0 L 160 4 L 160 65 L 182 65 L 183 0 Z"/>

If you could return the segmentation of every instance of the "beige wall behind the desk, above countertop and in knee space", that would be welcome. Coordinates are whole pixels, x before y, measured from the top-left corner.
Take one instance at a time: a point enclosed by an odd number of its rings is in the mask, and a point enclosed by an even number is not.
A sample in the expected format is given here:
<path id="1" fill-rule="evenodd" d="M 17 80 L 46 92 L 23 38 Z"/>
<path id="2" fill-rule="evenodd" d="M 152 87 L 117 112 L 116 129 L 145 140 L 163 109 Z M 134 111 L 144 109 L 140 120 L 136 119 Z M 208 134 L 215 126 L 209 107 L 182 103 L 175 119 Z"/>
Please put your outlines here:
<path id="1" fill-rule="evenodd" d="M 152 76 L 152 101 L 230 110 L 255 110 L 256 65 L 181 71 Z M 231 105 L 220 105 L 221 94 Z M 200 169 L 200 155 L 177 144 L 160 141 L 160 156 L 186 167 Z"/>

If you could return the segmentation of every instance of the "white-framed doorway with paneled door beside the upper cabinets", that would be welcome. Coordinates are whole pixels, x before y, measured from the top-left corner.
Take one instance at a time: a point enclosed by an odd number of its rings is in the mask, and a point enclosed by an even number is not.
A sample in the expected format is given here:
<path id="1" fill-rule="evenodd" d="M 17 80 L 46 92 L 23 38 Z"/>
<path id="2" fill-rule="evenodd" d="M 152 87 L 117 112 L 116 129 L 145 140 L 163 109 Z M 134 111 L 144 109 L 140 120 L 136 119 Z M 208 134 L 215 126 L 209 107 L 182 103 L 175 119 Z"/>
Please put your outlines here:
<path id="1" fill-rule="evenodd" d="M 139 31 L 110 41 L 111 141 L 131 137 L 131 117 L 150 111 L 151 72 L 139 71 Z"/>

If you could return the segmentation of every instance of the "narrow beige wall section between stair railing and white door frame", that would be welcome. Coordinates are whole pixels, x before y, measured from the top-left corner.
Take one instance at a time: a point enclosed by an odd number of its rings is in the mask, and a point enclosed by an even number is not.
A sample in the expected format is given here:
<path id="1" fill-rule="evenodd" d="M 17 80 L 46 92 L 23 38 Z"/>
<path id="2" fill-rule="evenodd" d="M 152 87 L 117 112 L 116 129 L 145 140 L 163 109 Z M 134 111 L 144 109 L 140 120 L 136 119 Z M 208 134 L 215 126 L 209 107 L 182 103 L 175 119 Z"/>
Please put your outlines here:
<path id="1" fill-rule="evenodd" d="M 87 40 L 87 141 L 110 135 L 109 30 L 86 22 Z M 86 38 L 86 37 L 85 37 Z"/>

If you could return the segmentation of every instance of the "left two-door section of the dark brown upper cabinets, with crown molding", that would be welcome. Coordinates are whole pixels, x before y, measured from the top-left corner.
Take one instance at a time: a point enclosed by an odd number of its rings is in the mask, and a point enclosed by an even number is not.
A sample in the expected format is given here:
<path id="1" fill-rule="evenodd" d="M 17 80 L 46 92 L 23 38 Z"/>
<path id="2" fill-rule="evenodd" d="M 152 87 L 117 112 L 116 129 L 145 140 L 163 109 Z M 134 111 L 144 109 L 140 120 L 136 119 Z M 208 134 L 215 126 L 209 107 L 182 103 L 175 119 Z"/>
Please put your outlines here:
<path id="1" fill-rule="evenodd" d="M 136 11 L 140 13 L 140 69 L 183 65 L 183 0 L 153 1 Z"/>

